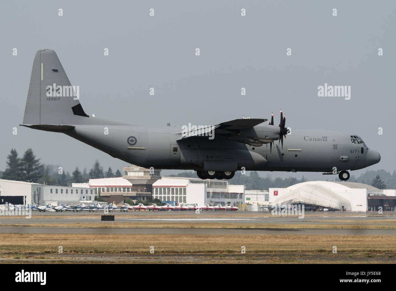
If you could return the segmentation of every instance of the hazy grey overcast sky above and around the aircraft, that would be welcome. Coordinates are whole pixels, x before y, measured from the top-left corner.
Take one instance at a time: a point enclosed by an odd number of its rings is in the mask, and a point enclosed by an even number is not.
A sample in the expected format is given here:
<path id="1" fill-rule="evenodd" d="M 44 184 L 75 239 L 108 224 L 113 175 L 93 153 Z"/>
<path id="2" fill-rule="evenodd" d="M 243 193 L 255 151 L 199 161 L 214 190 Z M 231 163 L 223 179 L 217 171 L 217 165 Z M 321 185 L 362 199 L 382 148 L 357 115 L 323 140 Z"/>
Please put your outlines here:
<path id="1" fill-rule="evenodd" d="M 11 148 L 22 156 L 29 147 L 43 163 L 62 165 L 70 173 L 76 166 L 89 169 L 95 160 L 105 169 L 126 165 L 66 135 L 19 127 L 34 55 L 44 48 L 56 51 L 72 85 L 80 86 L 80 103 L 89 115 L 182 126 L 218 124 L 242 115 L 270 118 L 271 112 L 278 122 L 283 109 L 286 126 L 352 131 L 381 154 L 381 162 L 369 169 L 395 169 L 395 1 L 0 5 L 0 170 Z M 109 56 L 103 55 L 104 48 Z M 286 56 L 287 48 L 291 56 Z M 351 99 L 318 97 L 317 88 L 325 83 L 351 86 Z M 246 96 L 241 96 L 242 87 Z M 17 135 L 12 135 L 13 127 Z M 314 175 L 309 177 L 323 178 Z"/>

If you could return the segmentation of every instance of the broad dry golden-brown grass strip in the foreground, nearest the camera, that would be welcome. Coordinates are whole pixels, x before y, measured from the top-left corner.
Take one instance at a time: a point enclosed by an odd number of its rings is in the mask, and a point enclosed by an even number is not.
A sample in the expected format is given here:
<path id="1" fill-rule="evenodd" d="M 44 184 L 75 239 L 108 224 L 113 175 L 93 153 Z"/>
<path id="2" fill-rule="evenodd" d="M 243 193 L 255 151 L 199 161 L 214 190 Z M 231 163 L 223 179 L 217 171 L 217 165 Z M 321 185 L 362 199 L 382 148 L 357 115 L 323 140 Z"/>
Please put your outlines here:
<path id="1" fill-rule="evenodd" d="M 0 262 L 394 263 L 395 258 L 396 236 L 0 234 Z"/>

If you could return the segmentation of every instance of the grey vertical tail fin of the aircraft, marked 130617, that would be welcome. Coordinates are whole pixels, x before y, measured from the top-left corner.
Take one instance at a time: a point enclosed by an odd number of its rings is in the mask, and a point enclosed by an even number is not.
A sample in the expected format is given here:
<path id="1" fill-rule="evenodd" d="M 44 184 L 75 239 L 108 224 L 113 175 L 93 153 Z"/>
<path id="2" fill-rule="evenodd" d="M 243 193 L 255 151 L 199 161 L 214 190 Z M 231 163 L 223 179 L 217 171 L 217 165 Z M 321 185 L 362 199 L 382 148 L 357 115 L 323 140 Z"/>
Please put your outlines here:
<path id="1" fill-rule="evenodd" d="M 84 123 L 81 119 L 89 116 L 78 101 L 77 88 L 71 86 L 55 51 L 37 51 L 30 76 L 23 125 L 37 128 Z"/>

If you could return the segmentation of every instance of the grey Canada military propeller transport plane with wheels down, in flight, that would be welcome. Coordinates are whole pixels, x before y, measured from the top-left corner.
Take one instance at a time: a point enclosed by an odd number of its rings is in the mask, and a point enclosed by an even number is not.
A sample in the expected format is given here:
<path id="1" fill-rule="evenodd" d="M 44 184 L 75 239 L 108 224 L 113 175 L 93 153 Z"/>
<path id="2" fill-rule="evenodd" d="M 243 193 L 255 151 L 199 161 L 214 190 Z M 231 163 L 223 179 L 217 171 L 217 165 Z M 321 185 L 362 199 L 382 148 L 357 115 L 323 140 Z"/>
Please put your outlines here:
<path id="1" fill-rule="evenodd" d="M 215 126 L 148 127 L 86 114 L 51 49 L 34 57 L 23 124 L 65 133 L 114 158 L 154 169 L 192 169 L 201 179 L 231 179 L 235 171 L 312 171 L 339 174 L 376 164 L 381 157 L 354 133 L 287 129 L 274 117 L 241 118 Z M 287 139 L 286 139 L 287 137 Z M 278 141 L 278 144 L 274 143 Z"/>

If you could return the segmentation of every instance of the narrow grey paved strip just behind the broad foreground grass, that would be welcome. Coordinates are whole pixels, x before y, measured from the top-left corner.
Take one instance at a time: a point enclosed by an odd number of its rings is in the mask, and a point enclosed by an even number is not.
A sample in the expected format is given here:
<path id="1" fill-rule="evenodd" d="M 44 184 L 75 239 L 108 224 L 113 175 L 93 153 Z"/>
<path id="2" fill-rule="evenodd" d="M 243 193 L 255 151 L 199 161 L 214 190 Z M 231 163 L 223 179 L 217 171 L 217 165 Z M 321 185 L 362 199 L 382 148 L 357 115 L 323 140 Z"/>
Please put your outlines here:
<path id="1" fill-rule="evenodd" d="M 2 234 L 315 234 L 315 235 L 396 235 L 394 229 L 284 229 L 284 228 L 112 228 L 109 227 L 0 227 Z"/>

